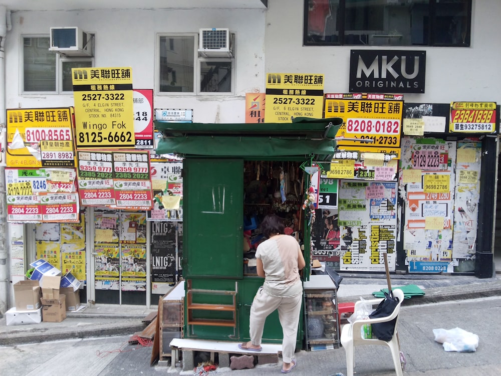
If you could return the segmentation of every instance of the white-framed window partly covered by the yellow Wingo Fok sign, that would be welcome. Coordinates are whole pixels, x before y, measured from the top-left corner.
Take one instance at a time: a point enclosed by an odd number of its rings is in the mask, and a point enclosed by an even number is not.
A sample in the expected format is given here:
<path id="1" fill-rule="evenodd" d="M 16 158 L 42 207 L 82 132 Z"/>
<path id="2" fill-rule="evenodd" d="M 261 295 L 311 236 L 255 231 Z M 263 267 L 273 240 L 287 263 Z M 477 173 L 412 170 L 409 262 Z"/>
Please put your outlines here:
<path id="1" fill-rule="evenodd" d="M 65 58 L 49 51 L 50 38 L 23 37 L 23 94 L 72 94 L 72 68 L 89 68 L 92 58 Z"/>

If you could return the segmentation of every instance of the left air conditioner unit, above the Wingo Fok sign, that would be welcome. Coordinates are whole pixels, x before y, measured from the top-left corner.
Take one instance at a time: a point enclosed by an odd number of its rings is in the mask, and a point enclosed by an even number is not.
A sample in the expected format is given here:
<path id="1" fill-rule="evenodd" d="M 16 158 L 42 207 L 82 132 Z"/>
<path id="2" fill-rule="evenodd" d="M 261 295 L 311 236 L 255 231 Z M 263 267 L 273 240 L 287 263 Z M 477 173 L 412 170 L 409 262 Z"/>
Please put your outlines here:
<path id="1" fill-rule="evenodd" d="M 94 56 L 94 36 L 78 27 L 51 28 L 51 47 L 68 57 Z"/>

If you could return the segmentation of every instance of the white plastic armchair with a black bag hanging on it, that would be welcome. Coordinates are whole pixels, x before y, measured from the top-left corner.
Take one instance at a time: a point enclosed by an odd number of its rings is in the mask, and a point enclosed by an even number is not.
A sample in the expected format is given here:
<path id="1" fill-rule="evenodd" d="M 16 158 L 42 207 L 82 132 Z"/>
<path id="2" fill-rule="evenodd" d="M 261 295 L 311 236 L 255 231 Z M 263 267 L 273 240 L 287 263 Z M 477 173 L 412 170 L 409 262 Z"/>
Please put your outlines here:
<path id="1" fill-rule="evenodd" d="M 393 313 L 390 316 L 380 317 L 380 318 L 371 318 L 365 320 L 356 320 L 351 324 L 346 324 L 343 326 L 343 330 L 341 331 L 341 344 L 343 345 L 346 351 L 346 368 L 347 368 L 347 376 L 353 376 L 353 367 L 355 365 L 354 358 L 354 347 L 355 345 L 386 345 L 390 348 L 391 356 L 393 358 L 393 365 L 395 366 L 395 371 L 398 376 L 402 376 L 402 364 L 400 363 L 400 346 L 398 343 L 397 337 L 397 328 L 398 328 L 398 314 L 400 312 L 400 304 L 404 300 L 404 293 L 400 289 L 393 290 L 393 296 L 398 298 L 398 305 L 394 309 Z M 361 307 L 357 307 L 361 304 L 371 304 L 377 305 L 381 302 L 381 299 L 370 299 L 358 301 L 355 303 L 355 312 L 357 312 L 357 308 L 361 309 Z M 388 342 L 379 340 L 377 338 L 364 338 L 361 333 L 362 326 L 365 324 L 374 324 L 377 322 L 385 322 L 391 321 L 394 318 L 397 318 L 395 322 L 395 331 L 393 332 L 393 337 Z"/>

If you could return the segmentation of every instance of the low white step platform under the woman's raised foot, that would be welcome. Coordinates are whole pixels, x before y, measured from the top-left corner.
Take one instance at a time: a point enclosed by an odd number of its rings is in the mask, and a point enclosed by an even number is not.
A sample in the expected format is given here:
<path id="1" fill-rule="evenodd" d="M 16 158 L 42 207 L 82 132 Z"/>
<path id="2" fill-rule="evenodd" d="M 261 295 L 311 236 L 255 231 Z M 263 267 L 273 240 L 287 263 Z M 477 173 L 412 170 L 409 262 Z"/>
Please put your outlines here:
<path id="1" fill-rule="evenodd" d="M 228 341 L 209 341 L 205 339 L 174 338 L 170 341 L 170 347 L 207 352 L 226 352 L 235 354 L 278 354 L 282 352 L 282 344 L 262 343 L 261 351 L 244 351 L 238 348 L 238 343 Z"/>

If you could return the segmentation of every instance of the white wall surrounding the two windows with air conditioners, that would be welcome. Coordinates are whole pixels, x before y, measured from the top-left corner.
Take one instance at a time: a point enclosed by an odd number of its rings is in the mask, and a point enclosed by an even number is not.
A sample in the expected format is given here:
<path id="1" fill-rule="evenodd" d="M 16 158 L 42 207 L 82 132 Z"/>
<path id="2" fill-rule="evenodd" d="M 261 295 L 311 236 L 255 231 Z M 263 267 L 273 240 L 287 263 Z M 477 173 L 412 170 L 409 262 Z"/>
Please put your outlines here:
<path id="1" fill-rule="evenodd" d="M 6 107 L 72 106 L 72 95 L 21 95 L 20 37 L 49 35 L 53 26 L 78 26 L 95 33 L 96 67 L 132 67 L 133 87 L 153 89 L 158 33 L 198 33 L 200 28 L 229 28 L 236 34 L 234 95 L 155 95 L 155 108 L 192 108 L 193 121 L 245 121 L 245 93 L 265 88 L 266 11 L 255 9 L 113 10 L 15 12 L 6 51 Z"/>

